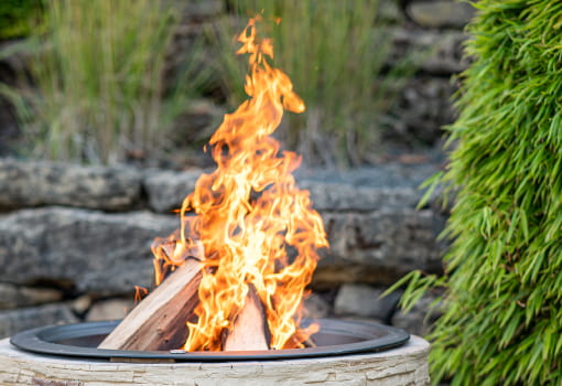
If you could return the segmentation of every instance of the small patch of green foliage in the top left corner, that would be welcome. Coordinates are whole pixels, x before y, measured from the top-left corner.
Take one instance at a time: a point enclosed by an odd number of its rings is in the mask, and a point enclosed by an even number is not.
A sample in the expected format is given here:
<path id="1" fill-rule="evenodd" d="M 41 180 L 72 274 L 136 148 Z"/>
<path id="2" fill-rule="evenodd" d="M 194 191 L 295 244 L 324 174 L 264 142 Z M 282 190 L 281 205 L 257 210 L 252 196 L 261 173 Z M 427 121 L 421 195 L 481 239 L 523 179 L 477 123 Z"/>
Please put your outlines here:
<path id="1" fill-rule="evenodd" d="M 28 35 L 40 14 L 42 4 L 42 0 L 0 1 L 0 39 Z"/>

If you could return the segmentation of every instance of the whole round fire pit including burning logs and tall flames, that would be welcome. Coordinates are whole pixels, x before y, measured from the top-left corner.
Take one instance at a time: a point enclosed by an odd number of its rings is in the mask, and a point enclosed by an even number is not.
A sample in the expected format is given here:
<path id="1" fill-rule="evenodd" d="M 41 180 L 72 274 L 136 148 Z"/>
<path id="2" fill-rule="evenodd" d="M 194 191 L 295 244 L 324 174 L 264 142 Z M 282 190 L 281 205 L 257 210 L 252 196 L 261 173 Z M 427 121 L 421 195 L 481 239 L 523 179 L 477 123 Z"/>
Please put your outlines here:
<path id="1" fill-rule="evenodd" d="M 425 341 L 377 323 L 301 318 L 317 249 L 329 244 L 291 174 L 300 157 L 271 137 L 284 110 L 305 106 L 269 63 L 272 43 L 258 39 L 257 21 L 238 37 L 250 98 L 210 138 L 217 169 L 184 200 L 180 228 L 152 246 L 156 288 L 120 322 L 1 341 L 2 385 L 429 383 Z"/>

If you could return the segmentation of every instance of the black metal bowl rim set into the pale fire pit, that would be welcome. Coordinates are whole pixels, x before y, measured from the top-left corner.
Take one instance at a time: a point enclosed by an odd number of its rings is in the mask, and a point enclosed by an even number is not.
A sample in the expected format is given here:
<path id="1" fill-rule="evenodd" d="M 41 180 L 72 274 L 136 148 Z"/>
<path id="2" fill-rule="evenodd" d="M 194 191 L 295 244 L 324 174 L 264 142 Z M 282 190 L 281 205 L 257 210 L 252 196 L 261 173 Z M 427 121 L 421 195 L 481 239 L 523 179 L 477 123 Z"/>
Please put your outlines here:
<path id="1" fill-rule="evenodd" d="M 304 320 L 303 325 L 312 320 Z M 57 356 L 107 361 L 142 360 L 175 362 L 268 361 L 371 353 L 397 347 L 410 339 L 399 329 L 376 322 L 315 319 L 320 331 L 312 335 L 316 347 L 270 351 L 182 352 L 100 350 L 98 344 L 119 321 L 50 325 L 11 337 L 18 349 Z"/>

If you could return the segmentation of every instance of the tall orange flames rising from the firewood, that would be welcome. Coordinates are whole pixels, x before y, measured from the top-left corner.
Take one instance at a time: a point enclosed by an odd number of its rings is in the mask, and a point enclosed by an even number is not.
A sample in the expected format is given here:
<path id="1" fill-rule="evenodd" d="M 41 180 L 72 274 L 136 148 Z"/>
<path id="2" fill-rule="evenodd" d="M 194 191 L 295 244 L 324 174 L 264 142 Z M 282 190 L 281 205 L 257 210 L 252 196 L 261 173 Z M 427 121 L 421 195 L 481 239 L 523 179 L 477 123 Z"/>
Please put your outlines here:
<path id="1" fill-rule="evenodd" d="M 187 323 L 188 351 L 223 349 L 221 336 L 233 329 L 250 285 L 266 310 L 270 347 L 302 346 L 314 332 L 299 329 L 302 298 L 316 249 L 328 246 L 310 193 L 295 187 L 291 174 L 300 157 L 280 152 L 280 143 L 269 137 L 284 109 L 302 112 L 304 103 L 289 77 L 268 63 L 273 47 L 271 40 L 257 37 L 256 19 L 238 41 L 237 54 L 249 54 L 245 89 L 250 98 L 226 115 L 212 137 L 217 169 L 203 174 L 185 199 L 181 229 L 153 245 L 156 283 L 186 256 L 205 256 L 198 321 Z M 187 217 L 192 211 L 195 216 Z M 201 246 L 203 251 L 193 253 Z"/>

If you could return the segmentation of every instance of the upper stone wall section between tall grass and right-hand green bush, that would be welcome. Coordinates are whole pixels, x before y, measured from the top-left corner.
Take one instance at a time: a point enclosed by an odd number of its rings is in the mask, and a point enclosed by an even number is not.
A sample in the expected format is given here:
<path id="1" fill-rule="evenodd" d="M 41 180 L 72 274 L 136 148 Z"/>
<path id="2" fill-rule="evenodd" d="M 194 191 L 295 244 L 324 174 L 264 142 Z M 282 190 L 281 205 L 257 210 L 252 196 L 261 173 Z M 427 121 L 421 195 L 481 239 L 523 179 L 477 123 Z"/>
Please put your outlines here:
<path id="1" fill-rule="evenodd" d="M 458 0 L 379 0 L 388 13 L 391 52 L 388 65 L 407 58 L 415 69 L 401 88 L 392 108 L 390 140 L 439 144 L 442 127 L 455 118 L 452 96 L 457 89 L 455 75 L 468 62 L 463 58 L 464 26 L 474 8 Z"/>

